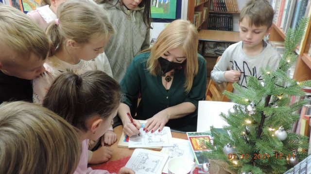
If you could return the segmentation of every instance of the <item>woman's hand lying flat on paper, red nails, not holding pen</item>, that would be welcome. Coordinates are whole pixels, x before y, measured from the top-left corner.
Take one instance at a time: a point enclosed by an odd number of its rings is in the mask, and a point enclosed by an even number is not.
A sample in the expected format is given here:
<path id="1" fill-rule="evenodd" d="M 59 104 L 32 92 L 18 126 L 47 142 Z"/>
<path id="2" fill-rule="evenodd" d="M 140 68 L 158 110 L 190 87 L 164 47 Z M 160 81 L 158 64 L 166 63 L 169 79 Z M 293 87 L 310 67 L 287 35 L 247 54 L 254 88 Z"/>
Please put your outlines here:
<path id="1" fill-rule="evenodd" d="M 153 133 L 157 129 L 161 131 L 165 124 L 170 120 L 170 116 L 168 113 L 163 110 L 155 114 L 153 117 L 147 119 L 147 123 L 145 124 L 144 131 Z"/>

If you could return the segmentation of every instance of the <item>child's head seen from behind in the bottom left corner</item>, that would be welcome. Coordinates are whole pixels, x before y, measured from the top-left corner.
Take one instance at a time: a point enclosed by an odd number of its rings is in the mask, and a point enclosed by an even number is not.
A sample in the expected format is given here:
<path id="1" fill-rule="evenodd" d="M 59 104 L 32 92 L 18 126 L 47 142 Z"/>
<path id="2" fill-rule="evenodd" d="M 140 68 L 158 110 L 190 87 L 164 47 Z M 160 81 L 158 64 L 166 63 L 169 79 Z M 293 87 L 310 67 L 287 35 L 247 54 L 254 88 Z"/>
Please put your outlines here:
<path id="1" fill-rule="evenodd" d="M 34 103 L 0 105 L 2 174 L 71 174 L 81 154 L 77 130 Z"/>

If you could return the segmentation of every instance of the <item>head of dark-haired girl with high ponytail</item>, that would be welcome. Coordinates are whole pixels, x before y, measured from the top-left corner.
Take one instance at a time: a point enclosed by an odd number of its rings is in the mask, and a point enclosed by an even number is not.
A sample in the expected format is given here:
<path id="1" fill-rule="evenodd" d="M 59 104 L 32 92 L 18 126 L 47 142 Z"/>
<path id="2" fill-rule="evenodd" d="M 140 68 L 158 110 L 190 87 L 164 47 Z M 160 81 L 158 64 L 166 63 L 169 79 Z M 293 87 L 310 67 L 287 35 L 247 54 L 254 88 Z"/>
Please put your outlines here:
<path id="1" fill-rule="evenodd" d="M 121 101 L 120 85 L 101 71 L 63 73 L 50 87 L 43 106 L 97 140 L 107 131 Z M 90 133 L 92 132 L 92 133 Z"/>

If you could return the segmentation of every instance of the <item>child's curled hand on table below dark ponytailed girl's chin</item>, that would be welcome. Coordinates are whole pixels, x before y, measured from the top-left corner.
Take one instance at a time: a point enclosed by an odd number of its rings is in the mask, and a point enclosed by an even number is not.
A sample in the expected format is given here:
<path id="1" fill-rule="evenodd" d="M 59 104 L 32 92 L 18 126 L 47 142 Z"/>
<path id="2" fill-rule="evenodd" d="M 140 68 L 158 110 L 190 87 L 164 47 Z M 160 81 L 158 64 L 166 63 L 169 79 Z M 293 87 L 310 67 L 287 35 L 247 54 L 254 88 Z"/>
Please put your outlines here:
<path id="1" fill-rule="evenodd" d="M 89 164 L 99 164 L 108 161 L 111 158 L 112 151 L 107 146 L 101 146 L 93 152 L 92 159 Z"/>

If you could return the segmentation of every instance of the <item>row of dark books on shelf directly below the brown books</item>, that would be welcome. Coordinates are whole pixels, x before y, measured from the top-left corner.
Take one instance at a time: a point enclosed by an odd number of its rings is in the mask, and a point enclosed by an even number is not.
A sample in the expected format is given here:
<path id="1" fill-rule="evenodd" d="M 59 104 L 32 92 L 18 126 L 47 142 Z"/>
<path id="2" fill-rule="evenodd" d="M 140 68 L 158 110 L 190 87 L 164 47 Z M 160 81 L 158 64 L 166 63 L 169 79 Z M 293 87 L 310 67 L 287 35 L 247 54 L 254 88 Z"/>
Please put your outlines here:
<path id="1" fill-rule="evenodd" d="M 208 14 L 207 29 L 233 31 L 232 14 Z"/>

